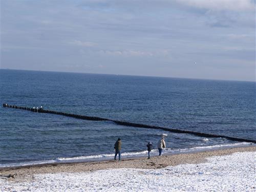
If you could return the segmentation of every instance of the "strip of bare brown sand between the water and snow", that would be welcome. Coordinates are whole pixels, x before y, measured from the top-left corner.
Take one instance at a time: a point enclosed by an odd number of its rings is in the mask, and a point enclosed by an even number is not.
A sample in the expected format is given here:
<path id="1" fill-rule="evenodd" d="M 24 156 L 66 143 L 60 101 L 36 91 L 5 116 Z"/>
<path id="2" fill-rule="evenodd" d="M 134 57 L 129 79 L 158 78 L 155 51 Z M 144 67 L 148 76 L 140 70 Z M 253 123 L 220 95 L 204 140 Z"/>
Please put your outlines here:
<path id="1" fill-rule="evenodd" d="M 167 166 L 176 166 L 180 164 L 198 164 L 206 162 L 212 156 L 224 156 L 238 152 L 256 152 L 256 146 L 232 147 L 203 152 L 191 152 L 174 155 L 154 156 L 151 159 L 144 158 L 127 158 L 121 161 L 93 161 L 93 162 L 69 162 L 69 163 L 52 163 L 27 165 L 22 167 L 5 167 L 0 169 L 1 179 L 8 181 L 31 181 L 36 174 L 54 174 L 54 173 L 82 173 L 94 172 L 96 170 L 112 168 L 141 168 L 141 169 L 158 169 Z M 15 178 L 8 178 L 8 175 L 14 174 Z"/>

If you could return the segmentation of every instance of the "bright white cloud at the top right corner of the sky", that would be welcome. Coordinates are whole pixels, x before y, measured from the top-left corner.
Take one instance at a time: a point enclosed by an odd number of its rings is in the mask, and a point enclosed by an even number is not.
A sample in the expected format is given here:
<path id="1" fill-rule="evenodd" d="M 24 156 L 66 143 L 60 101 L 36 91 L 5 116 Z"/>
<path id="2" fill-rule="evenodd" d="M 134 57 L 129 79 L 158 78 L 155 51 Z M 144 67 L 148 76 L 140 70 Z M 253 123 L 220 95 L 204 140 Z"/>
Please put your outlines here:
<path id="1" fill-rule="evenodd" d="M 180 0 L 177 2 L 191 7 L 210 10 L 241 11 L 255 9 L 255 4 L 250 0 Z"/>

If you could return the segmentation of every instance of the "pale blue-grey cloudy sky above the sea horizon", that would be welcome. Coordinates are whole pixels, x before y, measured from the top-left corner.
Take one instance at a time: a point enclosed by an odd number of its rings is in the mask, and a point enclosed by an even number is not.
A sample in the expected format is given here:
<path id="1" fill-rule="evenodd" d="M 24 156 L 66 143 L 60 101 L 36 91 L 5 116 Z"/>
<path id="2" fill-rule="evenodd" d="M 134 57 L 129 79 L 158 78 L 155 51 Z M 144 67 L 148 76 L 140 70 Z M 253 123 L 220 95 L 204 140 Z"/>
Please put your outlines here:
<path id="1" fill-rule="evenodd" d="M 255 0 L 1 0 L 1 69 L 255 81 Z"/>

